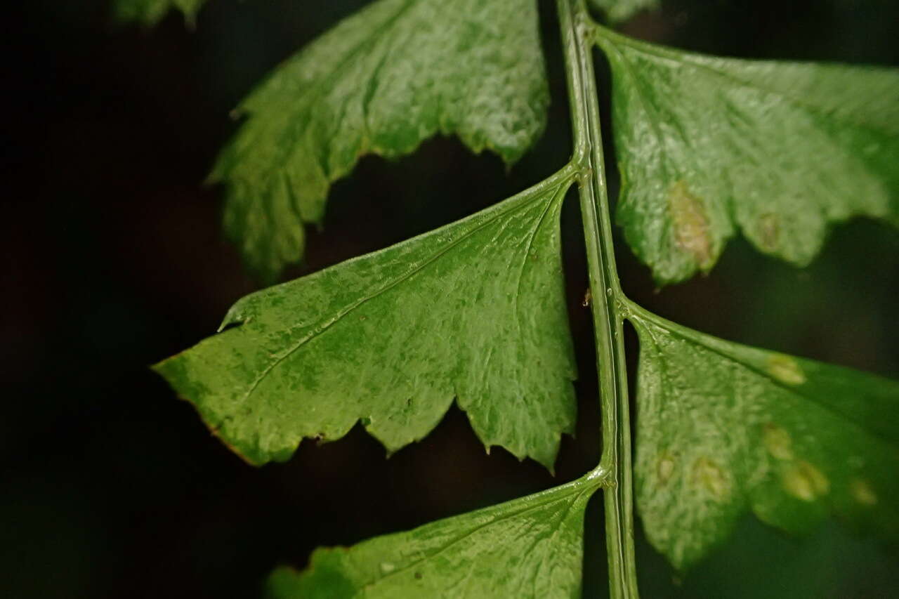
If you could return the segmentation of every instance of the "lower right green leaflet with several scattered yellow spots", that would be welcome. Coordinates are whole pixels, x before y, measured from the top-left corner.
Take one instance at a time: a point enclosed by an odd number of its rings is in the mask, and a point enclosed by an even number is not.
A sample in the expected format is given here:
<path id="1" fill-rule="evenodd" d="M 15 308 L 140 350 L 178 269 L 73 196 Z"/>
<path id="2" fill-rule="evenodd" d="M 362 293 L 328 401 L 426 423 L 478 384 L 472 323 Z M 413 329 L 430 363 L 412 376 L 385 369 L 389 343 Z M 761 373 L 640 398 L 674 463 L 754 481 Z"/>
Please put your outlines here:
<path id="1" fill-rule="evenodd" d="M 636 308 L 635 308 L 636 309 Z M 636 501 L 676 568 L 747 510 L 899 540 L 899 383 L 722 341 L 636 309 Z"/>

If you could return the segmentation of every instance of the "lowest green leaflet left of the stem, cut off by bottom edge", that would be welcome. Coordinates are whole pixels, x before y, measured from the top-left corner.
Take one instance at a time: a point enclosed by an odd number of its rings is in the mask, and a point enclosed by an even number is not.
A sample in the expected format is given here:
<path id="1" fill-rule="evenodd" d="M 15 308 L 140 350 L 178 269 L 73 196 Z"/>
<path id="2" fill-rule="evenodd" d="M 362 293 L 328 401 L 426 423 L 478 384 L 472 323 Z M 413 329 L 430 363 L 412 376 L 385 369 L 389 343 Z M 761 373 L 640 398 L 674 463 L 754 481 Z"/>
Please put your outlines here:
<path id="1" fill-rule="evenodd" d="M 279 568 L 271 599 L 581 595 L 583 512 L 597 478 L 462 514 L 414 531 L 319 549 L 301 573 Z"/>

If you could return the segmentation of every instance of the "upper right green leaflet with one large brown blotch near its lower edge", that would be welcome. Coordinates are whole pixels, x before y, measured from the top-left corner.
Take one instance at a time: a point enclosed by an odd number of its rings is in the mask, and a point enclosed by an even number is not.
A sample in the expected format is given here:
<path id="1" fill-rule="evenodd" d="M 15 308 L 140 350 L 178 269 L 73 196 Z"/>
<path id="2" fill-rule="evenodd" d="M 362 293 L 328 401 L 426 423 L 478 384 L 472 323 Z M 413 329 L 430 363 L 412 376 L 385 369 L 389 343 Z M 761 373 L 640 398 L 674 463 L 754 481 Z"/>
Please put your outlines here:
<path id="1" fill-rule="evenodd" d="M 899 225 L 899 70 L 715 58 L 604 28 L 619 223 L 657 282 L 716 263 L 739 228 L 808 264 L 834 222 Z"/>

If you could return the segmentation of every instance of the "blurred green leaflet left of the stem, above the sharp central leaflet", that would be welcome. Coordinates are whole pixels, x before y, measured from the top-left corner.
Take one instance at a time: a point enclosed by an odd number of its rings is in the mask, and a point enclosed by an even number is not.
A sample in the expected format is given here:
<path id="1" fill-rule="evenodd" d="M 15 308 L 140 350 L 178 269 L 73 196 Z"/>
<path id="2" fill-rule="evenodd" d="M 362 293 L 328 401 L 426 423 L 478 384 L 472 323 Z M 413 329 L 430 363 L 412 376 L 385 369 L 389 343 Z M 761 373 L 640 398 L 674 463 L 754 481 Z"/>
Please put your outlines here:
<path id="1" fill-rule="evenodd" d="M 303 254 L 335 180 L 366 154 L 409 154 L 457 133 L 507 163 L 546 123 L 533 0 L 379 0 L 275 69 L 210 178 L 225 228 L 267 281 Z"/>

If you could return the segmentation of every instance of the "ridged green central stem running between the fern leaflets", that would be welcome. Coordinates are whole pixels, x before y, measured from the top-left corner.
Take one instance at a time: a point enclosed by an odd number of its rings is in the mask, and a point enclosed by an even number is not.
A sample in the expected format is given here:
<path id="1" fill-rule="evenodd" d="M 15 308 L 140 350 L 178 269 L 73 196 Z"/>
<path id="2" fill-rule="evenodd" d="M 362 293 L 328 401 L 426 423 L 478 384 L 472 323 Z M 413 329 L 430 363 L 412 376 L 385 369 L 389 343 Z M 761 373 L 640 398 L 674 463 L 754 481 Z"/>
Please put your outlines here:
<path id="1" fill-rule="evenodd" d="M 600 469 L 605 489 L 606 547 L 611 599 L 636 599 L 628 380 L 622 335 L 624 295 L 615 267 L 609 195 L 602 158 L 600 109 L 593 72 L 593 22 L 583 0 L 557 0 L 571 104 L 583 234 L 592 295 L 602 409 Z"/>

